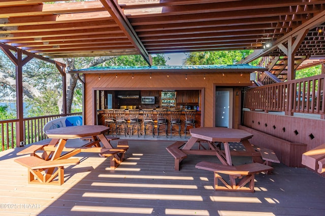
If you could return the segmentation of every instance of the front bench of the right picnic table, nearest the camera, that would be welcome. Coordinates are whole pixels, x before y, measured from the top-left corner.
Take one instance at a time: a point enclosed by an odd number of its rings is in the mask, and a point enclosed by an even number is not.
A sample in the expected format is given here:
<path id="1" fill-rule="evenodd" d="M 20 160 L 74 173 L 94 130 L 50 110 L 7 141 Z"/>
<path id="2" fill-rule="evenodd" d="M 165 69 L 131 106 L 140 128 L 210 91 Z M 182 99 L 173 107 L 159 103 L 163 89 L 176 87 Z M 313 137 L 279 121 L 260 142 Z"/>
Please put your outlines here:
<path id="1" fill-rule="evenodd" d="M 255 174 L 273 170 L 273 167 L 261 164 L 250 163 L 239 166 L 229 166 L 218 163 L 202 161 L 196 165 L 198 169 L 205 169 L 214 172 L 214 190 L 215 191 L 243 191 L 254 192 Z M 230 183 L 226 181 L 219 173 L 227 174 L 230 178 Z M 241 178 L 236 183 L 236 178 Z M 224 186 L 218 185 L 218 181 Z M 246 185 L 249 184 L 248 187 Z"/>

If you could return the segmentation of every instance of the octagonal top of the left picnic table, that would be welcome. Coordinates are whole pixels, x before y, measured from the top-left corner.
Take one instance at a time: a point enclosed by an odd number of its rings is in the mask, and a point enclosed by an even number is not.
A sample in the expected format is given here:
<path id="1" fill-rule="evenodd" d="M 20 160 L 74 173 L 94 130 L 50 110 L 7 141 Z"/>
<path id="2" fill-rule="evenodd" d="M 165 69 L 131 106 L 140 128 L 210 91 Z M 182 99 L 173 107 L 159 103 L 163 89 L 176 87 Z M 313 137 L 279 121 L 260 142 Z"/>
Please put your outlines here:
<path id="1" fill-rule="evenodd" d="M 99 135 L 108 130 L 109 128 L 104 125 L 81 125 L 55 128 L 47 130 L 46 133 L 49 138 L 75 139 Z"/>

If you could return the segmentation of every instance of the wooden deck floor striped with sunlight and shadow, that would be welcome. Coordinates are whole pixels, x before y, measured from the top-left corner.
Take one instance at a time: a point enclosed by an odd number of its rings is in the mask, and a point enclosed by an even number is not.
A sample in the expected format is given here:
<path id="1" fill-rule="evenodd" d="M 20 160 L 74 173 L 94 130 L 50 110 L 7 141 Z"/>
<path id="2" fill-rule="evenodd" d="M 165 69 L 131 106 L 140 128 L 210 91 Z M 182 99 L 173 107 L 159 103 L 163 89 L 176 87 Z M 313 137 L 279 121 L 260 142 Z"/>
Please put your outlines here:
<path id="1" fill-rule="evenodd" d="M 190 155 L 174 170 L 166 147 L 172 140 L 128 140 L 126 160 L 115 170 L 93 153 L 64 170 L 62 186 L 27 184 L 15 163 L 21 149 L 0 153 L 0 215 L 323 215 L 325 178 L 306 168 L 273 164 L 271 175 L 255 176 L 255 193 L 214 192 L 213 173 L 196 163 L 218 161 Z M 112 141 L 113 146 L 116 140 Z M 73 146 L 73 143 L 67 143 Z M 233 163 L 250 162 L 234 157 Z"/>

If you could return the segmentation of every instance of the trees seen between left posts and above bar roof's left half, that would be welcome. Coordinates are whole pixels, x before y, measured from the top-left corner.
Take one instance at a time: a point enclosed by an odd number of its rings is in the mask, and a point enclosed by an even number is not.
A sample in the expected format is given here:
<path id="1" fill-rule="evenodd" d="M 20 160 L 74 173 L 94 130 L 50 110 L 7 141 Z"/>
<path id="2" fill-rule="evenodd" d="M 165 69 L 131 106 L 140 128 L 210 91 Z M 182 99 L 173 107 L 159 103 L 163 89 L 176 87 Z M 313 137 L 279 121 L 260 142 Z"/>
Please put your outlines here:
<path id="1" fill-rule="evenodd" d="M 56 59 L 66 63 L 67 71 L 93 66 L 144 66 L 147 62 L 140 55 L 102 56 L 85 58 Z M 166 65 L 164 55 L 152 57 L 153 64 Z M 16 98 L 15 66 L 0 52 L 0 97 L 6 100 Z M 82 85 L 78 75 L 67 73 L 67 112 L 80 112 L 82 107 Z M 28 113 L 25 116 L 44 116 L 58 114 L 62 107 L 62 77 L 54 64 L 37 58 L 23 66 L 23 96 Z M 77 97 L 75 97 L 77 94 Z M 79 104 L 78 104 L 79 103 Z M 60 107 L 60 108 L 59 108 Z"/>

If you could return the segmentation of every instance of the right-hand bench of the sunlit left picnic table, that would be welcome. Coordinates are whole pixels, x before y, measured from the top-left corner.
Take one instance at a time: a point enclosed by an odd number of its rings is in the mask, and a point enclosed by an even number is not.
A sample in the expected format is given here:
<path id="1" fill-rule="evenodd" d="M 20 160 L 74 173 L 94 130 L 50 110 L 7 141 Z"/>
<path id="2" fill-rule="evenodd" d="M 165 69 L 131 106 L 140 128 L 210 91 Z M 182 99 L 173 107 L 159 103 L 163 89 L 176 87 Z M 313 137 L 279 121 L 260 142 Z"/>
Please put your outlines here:
<path id="1" fill-rule="evenodd" d="M 100 153 L 100 157 L 105 157 L 110 159 L 110 168 L 114 170 L 120 163 L 123 162 L 125 153 L 128 150 L 127 140 L 121 140 L 117 142 L 117 147 L 114 149 L 109 149 L 105 152 Z"/>

